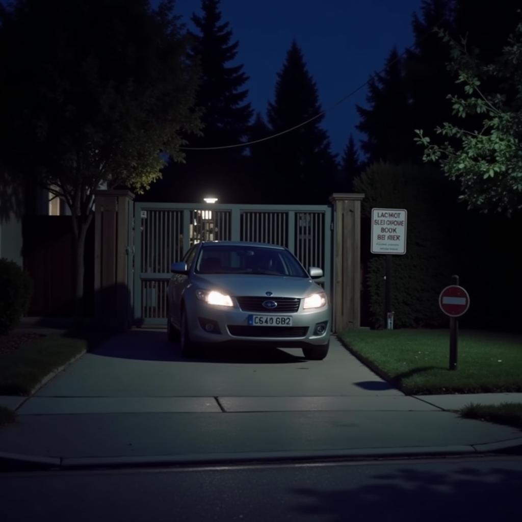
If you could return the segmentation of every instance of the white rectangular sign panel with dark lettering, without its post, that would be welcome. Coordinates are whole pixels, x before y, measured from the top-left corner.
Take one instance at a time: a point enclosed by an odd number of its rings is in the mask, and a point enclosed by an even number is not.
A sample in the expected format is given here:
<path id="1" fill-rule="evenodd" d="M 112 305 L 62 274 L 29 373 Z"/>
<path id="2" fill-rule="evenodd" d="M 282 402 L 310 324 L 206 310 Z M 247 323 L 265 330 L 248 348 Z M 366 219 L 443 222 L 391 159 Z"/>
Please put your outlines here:
<path id="1" fill-rule="evenodd" d="M 372 254 L 406 254 L 404 208 L 372 208 Z"/>

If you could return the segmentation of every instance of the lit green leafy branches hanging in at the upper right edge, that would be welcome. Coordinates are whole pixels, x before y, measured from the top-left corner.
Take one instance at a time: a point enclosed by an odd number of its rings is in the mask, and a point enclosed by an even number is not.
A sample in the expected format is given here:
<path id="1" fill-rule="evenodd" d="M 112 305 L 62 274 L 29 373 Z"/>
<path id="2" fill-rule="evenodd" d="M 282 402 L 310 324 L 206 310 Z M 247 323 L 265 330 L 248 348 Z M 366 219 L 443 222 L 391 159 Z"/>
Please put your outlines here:
<path id="1" fill-rule="evenodd" d="M 522 22 L 487 65 L 468 51 L 465 39 L 439 34 L 451 50 L 448 67 L 464 86 L 463 94 L 447 98 L 464 121 L 436 127 L 443 144 L 422 130 L 416 141 L 425 147 L 425 161 L 440 164 L 460 183 L 468 208 L 510 214 L 522 208 Z"/>

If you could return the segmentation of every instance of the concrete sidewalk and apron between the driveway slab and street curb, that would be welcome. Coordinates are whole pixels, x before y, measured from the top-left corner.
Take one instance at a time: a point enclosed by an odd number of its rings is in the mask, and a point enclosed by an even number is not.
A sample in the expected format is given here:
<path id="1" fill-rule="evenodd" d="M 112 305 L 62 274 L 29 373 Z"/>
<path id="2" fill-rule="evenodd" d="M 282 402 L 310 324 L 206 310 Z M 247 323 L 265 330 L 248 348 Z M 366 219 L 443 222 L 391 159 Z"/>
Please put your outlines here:
<path id="1" fill-rule="evenodd" d="M 445 411 L 473 400 L 484 397 L 34 397 L 21 405 L 16 424 L 0 430 L 0 458 L 74 467 L 522 447 L 517 429 Z M 522 394 L 488 396 L 489 403 L 506 400 Z"/>

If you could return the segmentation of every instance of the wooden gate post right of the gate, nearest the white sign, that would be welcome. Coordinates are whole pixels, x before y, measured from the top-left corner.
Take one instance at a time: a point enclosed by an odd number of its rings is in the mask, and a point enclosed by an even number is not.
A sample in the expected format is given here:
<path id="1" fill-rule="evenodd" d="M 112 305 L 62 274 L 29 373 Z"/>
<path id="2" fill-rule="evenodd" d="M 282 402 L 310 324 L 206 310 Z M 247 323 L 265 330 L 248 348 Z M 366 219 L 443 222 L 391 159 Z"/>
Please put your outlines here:
<path id="1" fill-rule="evenodd" d="M 332 194 L 334 206 L 333 331 L 361 326 L 361 200 Z"/>

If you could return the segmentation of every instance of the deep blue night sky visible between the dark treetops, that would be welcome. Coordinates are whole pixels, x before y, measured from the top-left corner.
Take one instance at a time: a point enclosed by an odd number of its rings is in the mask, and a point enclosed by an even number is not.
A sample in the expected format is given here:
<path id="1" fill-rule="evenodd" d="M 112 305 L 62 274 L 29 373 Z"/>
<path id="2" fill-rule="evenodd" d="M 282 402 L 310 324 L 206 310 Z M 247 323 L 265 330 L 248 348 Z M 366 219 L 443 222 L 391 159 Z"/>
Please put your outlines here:
<path id="1" fill-rule="evenodd" d="M 221 0 L 221 13 L 239 40 L 237 61 L 250 76 L 248 100 L 265 116 L 292 39 L 328 109 L 380 70 L 394 45 L 399 52 L 412 45 L 412 15 L 420 6 L 421 0 Z M 200 14 L 199 0 L 176 1 L 177 14 L 191 29 L 194 11 Z M 355 104 L 364 105 L 365 96 L 363 88 L 323 120 L 339 155 L 350 133 L 359 136 Z"/>

